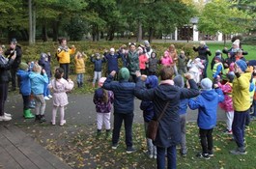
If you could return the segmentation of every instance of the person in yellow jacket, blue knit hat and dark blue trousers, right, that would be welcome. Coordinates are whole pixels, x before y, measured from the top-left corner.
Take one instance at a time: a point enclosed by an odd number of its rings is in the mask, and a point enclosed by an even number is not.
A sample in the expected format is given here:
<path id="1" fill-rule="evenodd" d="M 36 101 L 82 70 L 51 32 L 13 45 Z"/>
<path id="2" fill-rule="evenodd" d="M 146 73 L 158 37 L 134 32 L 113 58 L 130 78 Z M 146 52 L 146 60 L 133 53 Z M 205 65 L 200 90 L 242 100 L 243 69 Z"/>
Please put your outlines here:
<path id="1" fill-rule="evenodd" d="M 233 80 L 233 107 L 234 107 L 234 120 L 232 124 L 233 135 L 238 145 L 238 149 L 230 151 L 234 155 L 246 155 L 243 146 L 244 137 L 244 123 L 246 114 L 249 113 L 250 108 L 250 78 L 251 71 L 246 71 L 247 64 L 239 60 L 235 63 L 235 79 Z"/>

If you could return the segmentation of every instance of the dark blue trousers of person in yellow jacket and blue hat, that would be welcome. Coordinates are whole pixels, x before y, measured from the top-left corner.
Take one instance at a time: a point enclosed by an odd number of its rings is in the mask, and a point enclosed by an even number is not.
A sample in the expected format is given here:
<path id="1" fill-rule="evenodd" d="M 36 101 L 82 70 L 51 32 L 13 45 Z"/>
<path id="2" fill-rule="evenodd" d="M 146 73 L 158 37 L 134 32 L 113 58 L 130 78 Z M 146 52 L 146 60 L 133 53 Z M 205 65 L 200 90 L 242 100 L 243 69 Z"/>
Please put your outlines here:
<path id="1" fill-rule="evenodd" d="M 236 110 L 234 111 L 232 131 L 238 147 L 243 147 L 244 124 L 245 124 L 245 118 L 248 112 L 249 112 L 249 109 L 246 111 L 236 111 Z"/>

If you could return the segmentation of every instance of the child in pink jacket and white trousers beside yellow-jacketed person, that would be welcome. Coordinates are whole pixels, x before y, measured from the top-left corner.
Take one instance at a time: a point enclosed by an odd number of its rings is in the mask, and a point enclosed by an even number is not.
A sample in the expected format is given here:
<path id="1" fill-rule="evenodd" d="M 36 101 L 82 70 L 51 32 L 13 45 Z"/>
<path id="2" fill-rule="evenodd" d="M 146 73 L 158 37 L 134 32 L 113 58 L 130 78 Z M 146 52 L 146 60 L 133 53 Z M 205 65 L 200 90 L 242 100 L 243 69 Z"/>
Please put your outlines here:
<path id="1" fill-rule="evenodd" d="M 233 80 L 235 78 L 234 71 L 230 71 L 227 74 L 228 82 L 224 85 L 221 85 L 220 82 L 217 83 L 218 87 L 221 89 L 225 96 L 225 100 L 223 102 L 218 103 L 219 107 L 226 112 L 227 116 L 227 129 L 223 130 L 222 132 L 226 134 L 232 134 L 232 123 L 234 119 L 234 108 L 233 108 L 233 100 L 232 100 L 232 91 L 233 91 Z"/>

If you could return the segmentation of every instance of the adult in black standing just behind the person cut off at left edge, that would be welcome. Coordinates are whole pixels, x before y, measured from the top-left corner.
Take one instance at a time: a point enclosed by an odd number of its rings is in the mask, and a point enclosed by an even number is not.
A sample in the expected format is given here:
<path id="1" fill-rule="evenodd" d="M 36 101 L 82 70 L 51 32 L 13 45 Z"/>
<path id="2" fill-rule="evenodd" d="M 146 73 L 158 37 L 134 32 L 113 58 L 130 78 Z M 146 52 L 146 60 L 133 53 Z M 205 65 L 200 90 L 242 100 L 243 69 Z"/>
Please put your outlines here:
<path id="1" fill-rule="evenodd" d="M 12 90 L 16 90 L 16 71 L 19 69 L 19 64 L 21 63 L 21 47 L 16 45 L 16 42 L 10 42 L 10 47 L 5 52 L 5 55 L 9 58 L 11 58 L 14 53 L 16 53 L 16 57 L 14 60 L 14 64 L 11 67 L 11 75 L 12 75 Z"/>

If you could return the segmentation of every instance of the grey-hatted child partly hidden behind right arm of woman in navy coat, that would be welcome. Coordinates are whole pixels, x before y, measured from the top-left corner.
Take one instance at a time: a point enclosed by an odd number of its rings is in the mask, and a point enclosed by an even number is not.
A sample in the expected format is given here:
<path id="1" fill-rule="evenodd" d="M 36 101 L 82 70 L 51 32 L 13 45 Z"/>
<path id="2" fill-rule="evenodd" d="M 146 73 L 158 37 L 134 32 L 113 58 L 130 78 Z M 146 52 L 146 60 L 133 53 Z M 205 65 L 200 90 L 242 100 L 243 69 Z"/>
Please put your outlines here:
<path id="1" fill-rule="evenodd" d="M 184 77 L 183 75 L 176 75 L 173 78 L 174 84 L 180 88 L 184 88 L 185 83 L 184 83 Z M 188 81 L 187 81 L 188 82 Z M 190 88 L 189 83 L 186 83 L 187 89 Z M 186 116 L 186 109 L 187 109 L 187 103 L 188 103 L 188 99 L 180 99 L 180 121 L 181 121 L 181 131 L 182 131 L 182 142 L 181 142 L 181 146 L 182 146 L 182 150 L 181 150 L 181 154 L 185 157 L 186 156 L 186 146 L 185 146 L 185 116 Z"/>

